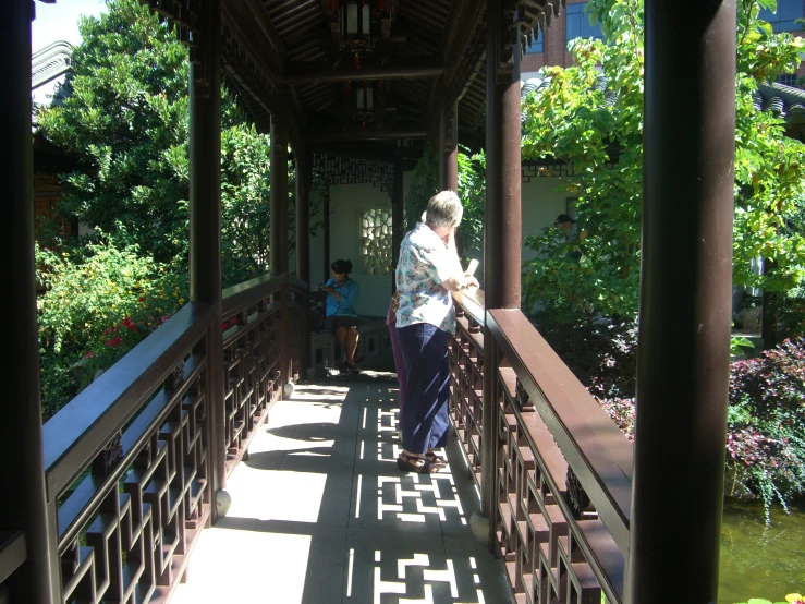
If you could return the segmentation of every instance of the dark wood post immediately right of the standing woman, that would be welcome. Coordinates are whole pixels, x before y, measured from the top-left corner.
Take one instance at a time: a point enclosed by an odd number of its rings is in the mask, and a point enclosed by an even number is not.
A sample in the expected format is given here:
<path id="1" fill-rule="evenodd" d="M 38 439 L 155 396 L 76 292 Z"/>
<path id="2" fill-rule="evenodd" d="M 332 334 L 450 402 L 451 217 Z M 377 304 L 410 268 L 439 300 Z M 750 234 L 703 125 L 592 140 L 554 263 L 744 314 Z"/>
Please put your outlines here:
<path id="1" fill-rule="evenodd" d="M 484 241 L 484 290 L 486 307 L 520 307 L 520 45 L 509 73 L 499 73 L 501 61 L 502 0 L 487 4 L 487 198 Z M 520 36 L 516 36 L 520 40 Z M 495 338 L 485 328 L 484 412 L 481 425 L 481 514 L 495 528 L 495 406 L 498 369 Z"/>

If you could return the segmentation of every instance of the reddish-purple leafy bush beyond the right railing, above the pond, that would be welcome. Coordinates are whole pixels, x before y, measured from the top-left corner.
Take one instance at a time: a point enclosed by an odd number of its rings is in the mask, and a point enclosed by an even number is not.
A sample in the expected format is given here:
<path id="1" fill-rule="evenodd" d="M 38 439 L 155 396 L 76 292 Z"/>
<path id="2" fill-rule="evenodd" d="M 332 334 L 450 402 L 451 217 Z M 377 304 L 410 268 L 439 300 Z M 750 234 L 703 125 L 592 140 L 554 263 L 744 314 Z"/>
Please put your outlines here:
<path id="1" fill-rule="evenodd" d="M 634 439 L 635 325 L 568 321 L 566 313 L 554 311 L 549 307 L 534 317 L 540 334 Z M 805 494 L 805 338 L 731 364 L 727 470 L 729 494 L 760 497 L 767 522 L 774 502 L 788 509 Z"/>

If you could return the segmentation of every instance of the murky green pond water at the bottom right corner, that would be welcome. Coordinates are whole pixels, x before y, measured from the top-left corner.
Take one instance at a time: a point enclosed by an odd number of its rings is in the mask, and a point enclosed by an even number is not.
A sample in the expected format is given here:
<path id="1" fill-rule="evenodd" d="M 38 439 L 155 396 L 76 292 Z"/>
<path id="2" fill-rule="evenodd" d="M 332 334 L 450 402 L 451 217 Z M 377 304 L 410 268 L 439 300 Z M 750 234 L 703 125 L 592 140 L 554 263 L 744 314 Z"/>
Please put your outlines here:
<path id="1" fill-rule="evenodd" d="M 765 597 L 784 602 L 788 593 L 805 594 L 805 503 L 791 514 L 776 507 L 764 523 L 757 502 L 724 502 L 718 604 Z"/>

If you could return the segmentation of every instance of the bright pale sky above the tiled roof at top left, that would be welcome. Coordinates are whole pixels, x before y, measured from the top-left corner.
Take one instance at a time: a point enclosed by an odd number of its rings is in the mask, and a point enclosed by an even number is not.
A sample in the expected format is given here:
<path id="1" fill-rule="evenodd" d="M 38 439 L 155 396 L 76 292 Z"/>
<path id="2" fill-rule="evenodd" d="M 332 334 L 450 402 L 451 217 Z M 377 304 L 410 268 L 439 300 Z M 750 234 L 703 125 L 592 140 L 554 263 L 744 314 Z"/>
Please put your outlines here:
<path id="1" fill-rule="evenodd" d="M 98 16 L 102 12 L 106 12 L 106 4 L 101 0 L 58 0 L 56 4 L 36 2 L 36 19 L 31 23 L 32 55 L 58 40 L 75 46 L 81 41 L 78 16 Z M 56 82 L 51 82 L 37 88 L 35 100 L 48 102 L 47 95 L 53 93 L 54 85 Z"/>

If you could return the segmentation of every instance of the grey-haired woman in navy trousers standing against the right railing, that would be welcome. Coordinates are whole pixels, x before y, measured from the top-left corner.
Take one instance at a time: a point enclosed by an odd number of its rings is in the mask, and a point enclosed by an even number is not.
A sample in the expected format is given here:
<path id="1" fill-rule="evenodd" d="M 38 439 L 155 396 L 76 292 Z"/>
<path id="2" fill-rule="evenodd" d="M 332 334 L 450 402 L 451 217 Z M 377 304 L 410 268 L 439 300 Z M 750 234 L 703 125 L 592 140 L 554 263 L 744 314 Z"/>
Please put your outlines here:
<path id="1" fill-rule="evenodd" d="M 397 265 L 397 333 L 405 365 L 405 411 L 400 470 L 437 472 L 444 461 L 435 448 L 447 445 L 450 367 L 448 338 L 455 333 L 450 292 L 478 287 L 461 268 L 455 229 L 464 208 L 452 191 L 428 201 L 425 222 L 417 222 L 400 247 Z"/>

